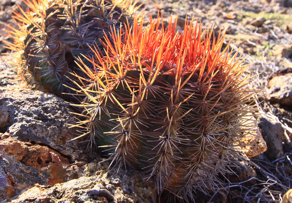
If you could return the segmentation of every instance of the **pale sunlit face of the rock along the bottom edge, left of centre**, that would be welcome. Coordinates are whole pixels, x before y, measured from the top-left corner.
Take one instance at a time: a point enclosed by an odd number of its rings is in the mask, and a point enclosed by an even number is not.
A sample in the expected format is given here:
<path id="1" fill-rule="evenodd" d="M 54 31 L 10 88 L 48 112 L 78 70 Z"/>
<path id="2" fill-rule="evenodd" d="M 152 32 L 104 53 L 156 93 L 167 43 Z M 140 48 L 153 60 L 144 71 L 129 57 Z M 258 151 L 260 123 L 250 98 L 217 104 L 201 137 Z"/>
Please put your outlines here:
<path id="1" fill-rule="evenodd" d="M 135 175 L 131 175 L 134 177 Z M 81 177 L 66 183 L 54 186 L 36 184 L 34 187 L 25 190 L 11 203 L 17 202 L 125 202 L 125 203 L 152 203 L 155 202 L 156 193 L 149 190 L 148 194 L 143 193 L 141 198 L 135 191 L 135 182 L 132 187 L 127 185 L 131 178 L 125 174 L 117 184 L 107 176 Z M 145 181 L 146 182 L 146 181 Z M 146 188 L 145 188 L 146 191 Z M 151 195 L 149 196 L 149 194 Z"/>

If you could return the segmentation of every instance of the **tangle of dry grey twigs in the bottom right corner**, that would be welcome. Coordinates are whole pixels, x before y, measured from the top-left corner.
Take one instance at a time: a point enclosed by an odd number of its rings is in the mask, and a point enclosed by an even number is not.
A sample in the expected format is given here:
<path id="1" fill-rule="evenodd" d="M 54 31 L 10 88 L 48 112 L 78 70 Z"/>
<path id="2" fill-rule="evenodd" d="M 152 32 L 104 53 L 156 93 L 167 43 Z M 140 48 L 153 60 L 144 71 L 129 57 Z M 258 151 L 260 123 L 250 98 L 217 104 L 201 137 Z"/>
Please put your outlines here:
<path id="1" fill-rule="evenodd" d="M 262 159 L 251 159 L 249 163 L 254 167 L 257 177 L 241 183 L 229 184 L 231 202 L 235 200 L 250 203 L 281 202 L 283 195 L 292 184 L 291 155 L 292 153 L 286 153 L 273 162 L 264 156 L 261 156 Z M 249 185 L 253 179 L 256 183 Z"/>

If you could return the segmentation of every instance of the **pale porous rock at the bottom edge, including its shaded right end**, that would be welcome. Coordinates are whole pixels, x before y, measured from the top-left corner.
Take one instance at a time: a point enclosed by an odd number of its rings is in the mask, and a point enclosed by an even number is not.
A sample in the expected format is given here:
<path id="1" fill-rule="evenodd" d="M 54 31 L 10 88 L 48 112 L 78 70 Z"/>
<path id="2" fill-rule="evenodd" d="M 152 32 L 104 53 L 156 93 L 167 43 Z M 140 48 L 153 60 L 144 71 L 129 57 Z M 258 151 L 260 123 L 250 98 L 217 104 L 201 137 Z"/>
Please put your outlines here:
<path id="1" fill-rule="evenodd" d="M 11 202 L 155 202 L 156 188 L 149 186 L 153 182 L 143 181 L 143 177 L 137 171 L 131 171 L 133 172 L 131 174 L 124 170 L 120 173 L 115 171 L 115 175 L 113 175 L 108 173 L 107 167 L 101 164 L 91 163 L 86 167 L 97 170 L 96 175 L 82 176 L 54 186 L 35 184 L 34 187 L 23 191 Z M 139 193 L 136 192 L 136 189 L 139 190 Z"/>

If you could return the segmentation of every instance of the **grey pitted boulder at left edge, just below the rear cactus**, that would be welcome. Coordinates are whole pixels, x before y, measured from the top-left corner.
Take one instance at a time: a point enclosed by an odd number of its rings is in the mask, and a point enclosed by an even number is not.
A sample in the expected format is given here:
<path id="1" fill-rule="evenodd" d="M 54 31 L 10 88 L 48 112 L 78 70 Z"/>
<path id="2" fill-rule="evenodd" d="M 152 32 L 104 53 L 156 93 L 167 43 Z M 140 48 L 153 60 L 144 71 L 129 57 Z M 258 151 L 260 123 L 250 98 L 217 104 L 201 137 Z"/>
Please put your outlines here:
<path id="1" fill-rule="evenodd" d="M 0 89 L 0 133 L 7 131 L 14 141 L 50 146 L 73 162 L 86 160 L 78 141 L 69 142 L 76 137 L 75 129 L 65 125 L 76 122 L 70 111 L 64 100 L 52 94 Z"/>

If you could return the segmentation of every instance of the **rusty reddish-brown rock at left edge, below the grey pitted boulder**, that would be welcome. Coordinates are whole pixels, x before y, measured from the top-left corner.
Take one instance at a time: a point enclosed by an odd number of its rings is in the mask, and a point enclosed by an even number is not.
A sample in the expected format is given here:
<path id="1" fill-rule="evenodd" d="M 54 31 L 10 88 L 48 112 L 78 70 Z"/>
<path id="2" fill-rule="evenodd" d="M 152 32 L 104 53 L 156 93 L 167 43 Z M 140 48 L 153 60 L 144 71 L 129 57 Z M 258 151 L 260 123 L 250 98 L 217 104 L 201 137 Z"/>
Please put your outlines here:
<path id="1" fill-rule="evenodd" d="M 6 138 L 0 140 L 0 156 L 0 198 L 12 197 L 35 183 L 63 183 L 75 175 L 67 171 L 68 159 L 48 147 Z"/>

